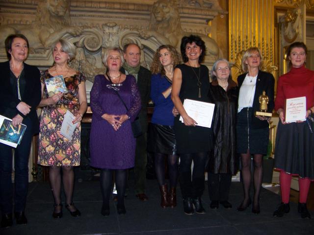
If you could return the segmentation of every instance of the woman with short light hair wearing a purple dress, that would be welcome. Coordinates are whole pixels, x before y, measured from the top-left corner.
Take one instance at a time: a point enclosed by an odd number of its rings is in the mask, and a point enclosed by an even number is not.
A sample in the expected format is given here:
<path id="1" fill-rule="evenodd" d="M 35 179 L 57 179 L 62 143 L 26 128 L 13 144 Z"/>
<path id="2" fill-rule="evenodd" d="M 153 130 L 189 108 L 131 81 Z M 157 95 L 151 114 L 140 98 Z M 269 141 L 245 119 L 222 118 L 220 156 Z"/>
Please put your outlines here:
<path id="1" fill-rule="evenodd" d="M 123 52 L 108 48 L 103 57 L 105 74 L 95 76 L 90 93 L 93 111 L 90 133 L 91 166 L 101 168 L 103 206 L 101 213 L 109 215 L 112 177 L 118 192 L 118 214 L 125 214 L 124 195 L 127 187 L 127 169 L 134 167 L 136 139 L 131 122 L 141 109 L 141 98 L 132 75 L 120 72 Z"/>

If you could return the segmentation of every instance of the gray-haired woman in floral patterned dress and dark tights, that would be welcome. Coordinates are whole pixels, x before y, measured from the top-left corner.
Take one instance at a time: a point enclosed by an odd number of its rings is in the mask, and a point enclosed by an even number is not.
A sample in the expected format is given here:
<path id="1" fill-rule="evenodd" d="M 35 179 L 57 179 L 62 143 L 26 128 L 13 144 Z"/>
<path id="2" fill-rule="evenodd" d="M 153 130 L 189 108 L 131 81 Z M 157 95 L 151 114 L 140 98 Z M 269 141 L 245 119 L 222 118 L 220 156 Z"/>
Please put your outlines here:
<path id="1" fill-rule="evenodd" d="M 42 99 L 39 106 L 43 107 L 43 111 L 40 118 L 38 164 L 50 166 L 49 179 L 54 198 L 53 218 L 62 217 L 61 181 L 66 209 L 72 216 L 80 216 L 72 201 L 75 179 L 73 167 L 80 164 L 80 121 L 86 112 L 87 100 L 85 77 L 69 67 L 69 61 L 75 57 L 75 49 L 71 42 L 60 39 L 52 46 L 53 66 L 41 72 Z M 66 91 L 51 95 L 46 81 L 58 78 L 64 80 Z M 74 115 L 72 122 L 77 123 L 72 140 L 60 134 L 67 111 Z"/>

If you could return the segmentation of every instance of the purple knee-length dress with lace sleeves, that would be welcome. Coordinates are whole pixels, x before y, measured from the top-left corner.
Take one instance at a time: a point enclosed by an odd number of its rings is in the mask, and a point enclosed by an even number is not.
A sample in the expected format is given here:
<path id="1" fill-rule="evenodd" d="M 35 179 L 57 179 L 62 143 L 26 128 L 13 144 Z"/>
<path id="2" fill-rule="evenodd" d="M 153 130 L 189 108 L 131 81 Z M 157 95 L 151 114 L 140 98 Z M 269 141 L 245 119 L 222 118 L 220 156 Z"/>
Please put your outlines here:
<path id="1" fill-rule="evenodd" d="M 116 92 L 106 87 L 110 84 L 104 75 L 97 75 L 90 92 L 90 107 L 93 111 L 90 132 L 90 165 L 106 169 L 127 169 L 134 166 L 136 139 L 133 137 L 131 121 L 137 117 L 141 109 L 141 97 L 135 78 L 127 75 L 118 91 L 129 108 L 127 112 Z M 130 119 L 123 122 L 115 131 L 102 118 L 104 114 L 127 114 Z"/>

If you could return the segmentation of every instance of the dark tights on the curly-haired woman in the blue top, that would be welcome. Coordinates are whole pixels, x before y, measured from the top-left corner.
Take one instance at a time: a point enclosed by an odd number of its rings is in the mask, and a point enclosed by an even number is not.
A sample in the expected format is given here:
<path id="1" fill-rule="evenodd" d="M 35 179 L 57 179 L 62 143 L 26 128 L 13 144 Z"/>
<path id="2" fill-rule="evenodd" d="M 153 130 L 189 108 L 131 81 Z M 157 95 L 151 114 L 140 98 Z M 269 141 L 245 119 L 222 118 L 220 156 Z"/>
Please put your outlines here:
<path id="1" fill-rule="evenodd" d="M 166 155 L 162 153 L 155 153 L 155 171 L 159 186 L 165 184 L 165 157 L 168 156 L 168 173 L 169 185 L 171 187 L 177 186 L 178 180 L 178 155 Z"/>

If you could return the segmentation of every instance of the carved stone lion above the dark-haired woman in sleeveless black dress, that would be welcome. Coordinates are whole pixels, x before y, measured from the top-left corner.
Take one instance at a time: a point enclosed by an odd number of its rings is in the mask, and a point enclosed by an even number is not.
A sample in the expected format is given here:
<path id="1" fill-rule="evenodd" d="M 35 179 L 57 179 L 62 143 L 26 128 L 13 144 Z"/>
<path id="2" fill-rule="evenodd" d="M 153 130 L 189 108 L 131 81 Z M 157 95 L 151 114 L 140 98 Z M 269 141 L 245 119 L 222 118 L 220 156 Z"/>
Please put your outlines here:
<path id="1" fill-rule="evenodd" d="M 180 50 L 181 38 L 191 33 L 184 32 L 181 27 L 180 15 L 176 0 L 157 0 L 151 12 L 149 30 L 140 32 L 140 37 L 155 37 L 160 44 L 170 44 Z M 219 47 L 216 42 L 207 35 L 201 35 L 208 53 L 211 56 L 218 56 Z"/>

